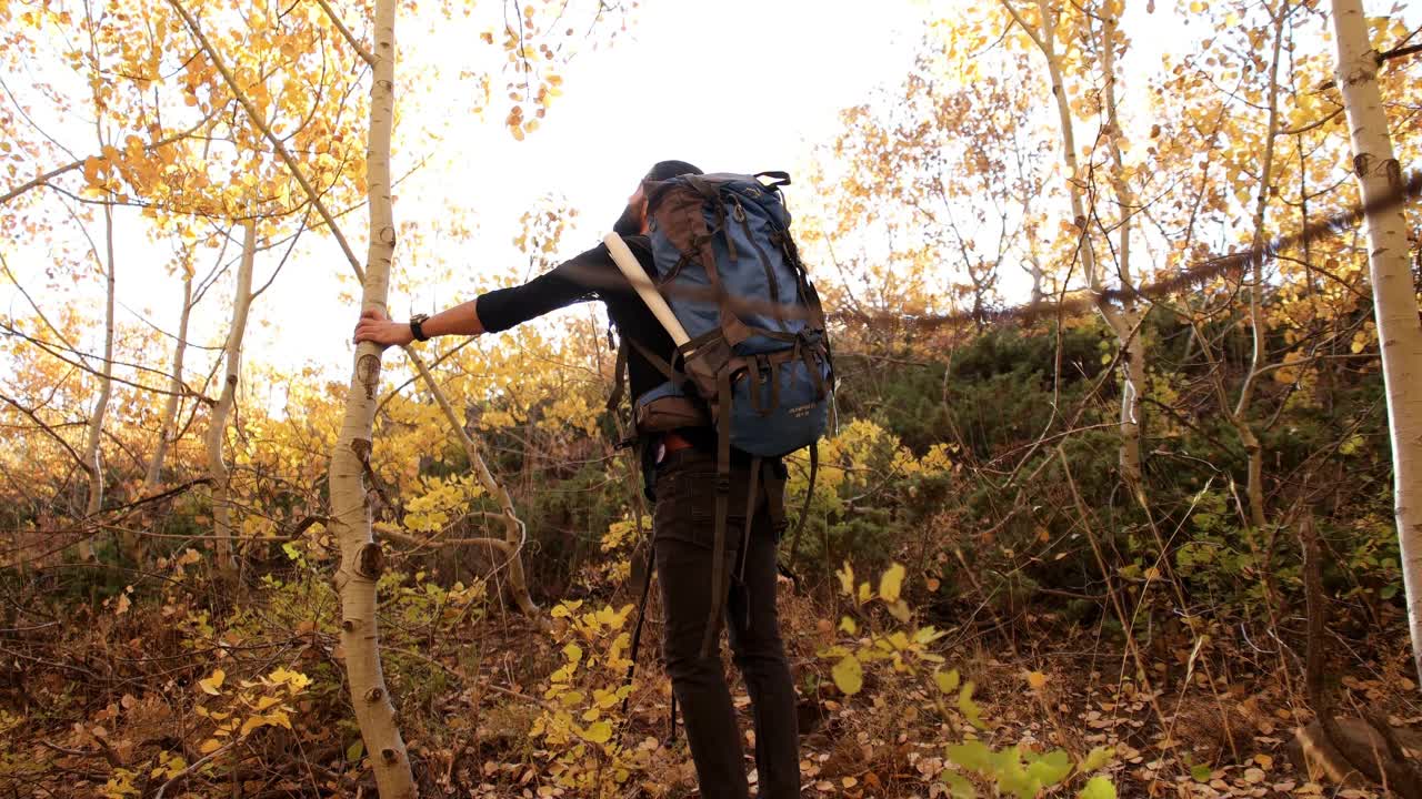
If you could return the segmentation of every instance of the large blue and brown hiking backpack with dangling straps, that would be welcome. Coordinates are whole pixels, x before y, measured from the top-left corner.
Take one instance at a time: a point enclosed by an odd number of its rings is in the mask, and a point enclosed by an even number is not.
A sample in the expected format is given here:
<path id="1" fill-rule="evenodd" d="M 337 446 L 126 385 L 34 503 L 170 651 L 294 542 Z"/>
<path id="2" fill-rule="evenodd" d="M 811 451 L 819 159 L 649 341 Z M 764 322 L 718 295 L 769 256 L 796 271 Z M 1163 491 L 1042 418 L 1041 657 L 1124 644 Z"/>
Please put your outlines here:
<path id="1" fill-rule="evenodd" d="M 813 492 L 815 444 L 825 434 L 835 387 L 825 313 L 781 199 L 779 188 L 789 182 L 785 172 L 762 172 L 681 175 L 644 185 L 657 287 L 690 341 L 670 360 L 630 341 L 667 377 L 634 400 L 634 417 L 638 434 L 707 425 L 717 432 L 715 599 L 705 651 L 724 596 L 717 589 L 725 580 L 731 451 L 752 458 L 752 506 L 762 458 L 806 446 Z M 792 549 L 806 516 L 801 513 Z M 749 530 L 747 519 L 745 535 Z"/>

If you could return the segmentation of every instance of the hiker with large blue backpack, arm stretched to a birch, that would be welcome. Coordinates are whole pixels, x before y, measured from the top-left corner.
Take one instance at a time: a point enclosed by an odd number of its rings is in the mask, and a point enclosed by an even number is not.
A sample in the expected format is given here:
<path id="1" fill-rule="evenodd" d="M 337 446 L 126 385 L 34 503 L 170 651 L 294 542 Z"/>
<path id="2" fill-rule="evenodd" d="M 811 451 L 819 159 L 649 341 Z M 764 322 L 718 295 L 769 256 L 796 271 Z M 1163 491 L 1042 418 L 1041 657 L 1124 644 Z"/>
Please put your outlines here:
<path id="1" fill-rule="evenodd" d="M 609 408 L 626 372 L 656 503 L 667 671 L 707 799 L 749 795 L 722 621 L 751 697 L 758 795 L 799 795 L 795 684 L 775 607 L 788 526 L 781 458 L 823 434 L 833 374 L 819 299 L 789 236 L 786 183 L 664 161 L 603 245 L 437 316 L 395 323 L 371 310 L 356 327 L 357 341 L 404 345 L 496 333 L 592 299 L 607 306 L 621 337 Z"/>

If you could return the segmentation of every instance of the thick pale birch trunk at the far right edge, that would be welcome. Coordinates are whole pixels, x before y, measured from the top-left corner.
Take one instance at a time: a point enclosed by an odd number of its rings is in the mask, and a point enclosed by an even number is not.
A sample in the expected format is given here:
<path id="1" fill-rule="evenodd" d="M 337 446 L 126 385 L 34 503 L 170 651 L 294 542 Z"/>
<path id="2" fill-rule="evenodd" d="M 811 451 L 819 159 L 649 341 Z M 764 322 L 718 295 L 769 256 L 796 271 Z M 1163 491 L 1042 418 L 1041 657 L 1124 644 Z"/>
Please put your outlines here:
<path id="1" fill-rule="evenodd" d="M 1388 115 L 1378 88 L 1378 54 L 1368 43 L 1361 0 L 1332 0 L 1338 90 L 1352 131 L 1352 165 L 1362 200 L 1376 209 L 1402 191 Z M 1408 266 L 1402 208 L 1368 212 L 1368 266 L 1382 350 L 1392 434 L 1394 502 L 1402 550 L 1412 658 L 1422 677 L 1422 321 Z"/>

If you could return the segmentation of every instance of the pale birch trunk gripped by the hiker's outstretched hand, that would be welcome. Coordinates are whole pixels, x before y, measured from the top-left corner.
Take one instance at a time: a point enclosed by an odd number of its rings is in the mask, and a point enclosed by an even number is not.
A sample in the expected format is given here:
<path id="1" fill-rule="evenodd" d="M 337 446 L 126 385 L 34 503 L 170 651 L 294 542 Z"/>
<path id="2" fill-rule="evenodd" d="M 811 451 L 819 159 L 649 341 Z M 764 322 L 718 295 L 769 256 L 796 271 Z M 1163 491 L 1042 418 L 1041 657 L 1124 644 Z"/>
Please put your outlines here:
<path id="1" fill-rule="evenodd" d="M 363 309 L 385 311 L 390 266 L 395 252 L 395 222 L 390 191 L 390 135 L 395 117 L 395 0 L 375 0 L 375 48 L 370 87 L 370 138 L 365 151 L 365 185 L 370 192 L 370 249 L 361 293 Z M 370 465 L 380 390 L 380 347 L 356 348 L 356 364 L 346 394 L 346 415 L 331 452 L 331 530 L 341 546 L 336 590 L 341 597 L 341 647 L 351 704 L 365 752 L 375 771 L 383 799 L 415 795 L 405 742 L 395 725 L 395 707 L 380 667 L 380 628 L 375 620 L 375 583 L 384 556 L 371 536 L 370 503 L 364 472 Z"/>

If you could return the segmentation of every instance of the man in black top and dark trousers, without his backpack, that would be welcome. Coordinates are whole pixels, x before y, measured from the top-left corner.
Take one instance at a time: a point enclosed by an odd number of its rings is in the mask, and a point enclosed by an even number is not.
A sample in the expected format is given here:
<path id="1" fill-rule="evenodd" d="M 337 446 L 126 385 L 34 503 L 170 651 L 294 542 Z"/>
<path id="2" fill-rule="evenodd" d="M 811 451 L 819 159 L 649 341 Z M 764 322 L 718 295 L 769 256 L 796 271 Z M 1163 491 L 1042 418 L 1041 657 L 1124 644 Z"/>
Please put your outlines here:
<path id="1" fill-rule="evenodd" d="M 701 171 L 681 161 L 663 161 L 643 181 L 667 181 L 687 173 L 701 175 Z M 623 236 L 641 267 L 656 277 L 641 183 L 613 230 Z M 428 318 L 417 316 L 410 323 L 397 323 L 378 311 L 367 311 L 356 327 L 356 341 L 404 345 L 435 336 L 498 333 L 592 299 L 606 303 L 607 316 L 621 337 L 671 361 L 675 350 L 671 337 L 617 270 L 604 245 L 523 286 L 489 291 Z M 629 347 L 627 358 L 634 397 L 664 382 L 663 372 L 637 347 Z M 741 734 L 721 668 L 720 645 L 702 657 L 712 600 L 715 435 L 710 428 L 683 428 L 646 435 L 640 444 L 647 493 L 656 500 L 653 549 L 667 614 L 667 671 L 683 708 L 701 795 L 747 799 Z M 727 525 L 731 530 L 745 527 L 752 485 L 749 461 L 739 454 L 732 456 L 732 513 Z M 775 611 L 775 547 L 785 527 L 784 478 L 785 468 L 779 462 L 758 475 L 751 535 L 744 547 L 741 536 L 729 536 L 734 542 L 727 545 L 727 569 L 722 570 L 729 576 L 722 589 L 722 607 L 731 653 L 745 678 L 755 719 L 755 765 L 762 799 L 799 795 L 795 685 Z"/>

